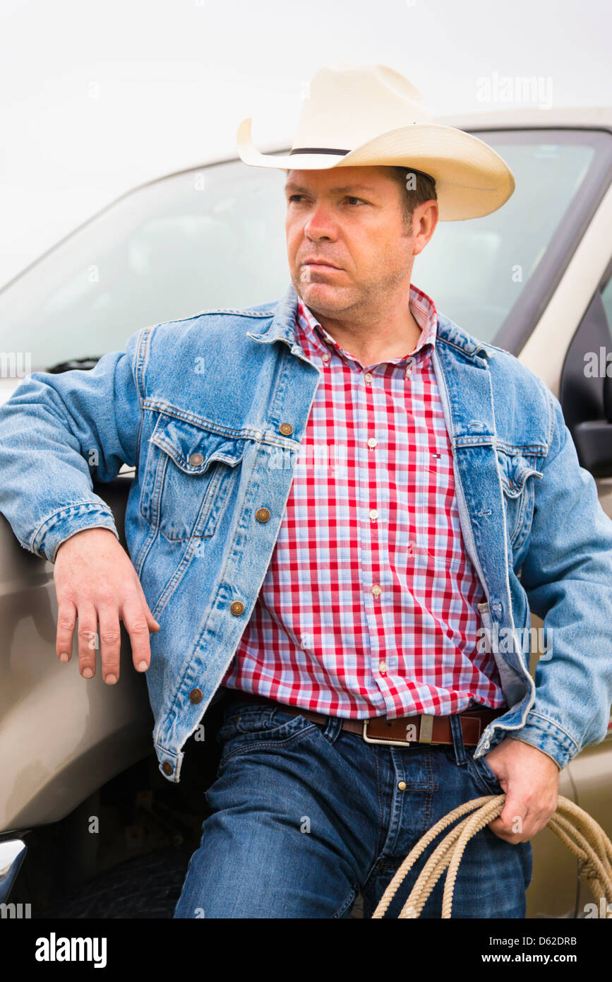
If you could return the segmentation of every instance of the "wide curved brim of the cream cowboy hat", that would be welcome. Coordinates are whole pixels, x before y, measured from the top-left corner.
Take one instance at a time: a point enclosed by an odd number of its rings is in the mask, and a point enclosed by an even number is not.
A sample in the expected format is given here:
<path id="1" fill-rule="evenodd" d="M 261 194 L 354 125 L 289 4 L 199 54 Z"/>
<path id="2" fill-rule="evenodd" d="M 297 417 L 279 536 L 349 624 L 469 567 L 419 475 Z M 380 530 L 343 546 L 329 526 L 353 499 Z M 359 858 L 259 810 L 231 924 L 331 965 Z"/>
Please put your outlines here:
<path id="1" fill-rule="evenodd" d="M 389 130 L 346 154 L 260 153 L 251 139 L 251 120 L 237 131 L 240 159 L 249 167 L 326 170 L 332 167 L 414 167 L 435 181 L 439 221 L 481 218 L 496 211 L 515 190 L 505 160 L 478 136 L 454 127 L 414 123 Z"/>

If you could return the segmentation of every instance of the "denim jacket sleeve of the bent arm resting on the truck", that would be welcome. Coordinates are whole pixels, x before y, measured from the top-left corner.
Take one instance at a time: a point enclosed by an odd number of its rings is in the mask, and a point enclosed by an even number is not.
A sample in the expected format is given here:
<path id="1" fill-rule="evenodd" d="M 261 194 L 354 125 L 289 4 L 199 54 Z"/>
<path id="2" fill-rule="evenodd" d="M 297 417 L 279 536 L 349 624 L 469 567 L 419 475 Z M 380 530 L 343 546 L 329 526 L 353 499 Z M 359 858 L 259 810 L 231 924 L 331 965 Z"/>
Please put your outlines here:
<path id="1" fill-rule="evenodd" d="M 0 512 L 22 546 L 51 563 L 83 528 L 119 538 L 92 477 L 110 481 L 122 464 L 136 464 L 150 331 L 87 371 L 32 372 L 0 407 Z"/>

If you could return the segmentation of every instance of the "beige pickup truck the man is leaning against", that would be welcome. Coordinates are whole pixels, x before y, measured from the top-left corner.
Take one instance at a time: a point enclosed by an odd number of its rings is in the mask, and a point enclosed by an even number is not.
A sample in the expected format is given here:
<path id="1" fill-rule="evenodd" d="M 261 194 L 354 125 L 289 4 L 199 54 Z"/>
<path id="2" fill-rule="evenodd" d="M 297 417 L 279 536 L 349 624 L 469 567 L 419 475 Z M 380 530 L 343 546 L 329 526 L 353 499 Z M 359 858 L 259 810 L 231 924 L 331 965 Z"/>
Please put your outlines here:
<path id="1" fill-rule="evenodd" d="M 413 282 L 545 381 L 612 517 L 612 109 L 438 122 L 490 143 L 516 191 L 491 215 L 440 223 Z M 146 324 L 279 298 L 282 181 L 280 171 L 211 159 L 128 191 L 49 249 L 0 291 L 0 403 L 28 372 L 90 368 Z M 95 487 L 122 537 L 131 478 L 124 466 Z M 117 685 L 100 673 L 83 682 L 77 658 L 60 664 L 53 567 L 1 514 L 0 611 L 3 916 L 172 917 L 218 762 L 217 706 L 169 785 L 125 628 Z M 541 627 L 535 616 L 532 626 Z M 565 767 L 559 791 L 612 836 L 612 726 Z M 533 846 L 528 917 L 584 917 L 591 897 L 576 858 L 547 829 Z"/>

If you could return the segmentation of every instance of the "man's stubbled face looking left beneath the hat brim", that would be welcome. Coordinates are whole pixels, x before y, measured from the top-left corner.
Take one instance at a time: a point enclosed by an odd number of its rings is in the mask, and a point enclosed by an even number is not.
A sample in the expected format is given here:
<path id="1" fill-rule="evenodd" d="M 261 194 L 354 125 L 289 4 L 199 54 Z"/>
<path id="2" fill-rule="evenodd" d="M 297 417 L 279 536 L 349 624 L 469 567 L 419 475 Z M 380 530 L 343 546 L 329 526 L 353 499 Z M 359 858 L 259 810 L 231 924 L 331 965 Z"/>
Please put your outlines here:
<path id="1" fill-rule="evenodd" d="M 332 317 L 351 308 L 384 307 L 394 289 L 402 284 L 408 289 L 414 255 L 434 232 L 437 206 L 429 202 L 428 211 L 427 202 L 419 205 L 408 234 L 404 195 L 380 167 L 288 172 L 291 282 L 311 309 Z M 424 230 L 420 219 L 426 211 Z"/>

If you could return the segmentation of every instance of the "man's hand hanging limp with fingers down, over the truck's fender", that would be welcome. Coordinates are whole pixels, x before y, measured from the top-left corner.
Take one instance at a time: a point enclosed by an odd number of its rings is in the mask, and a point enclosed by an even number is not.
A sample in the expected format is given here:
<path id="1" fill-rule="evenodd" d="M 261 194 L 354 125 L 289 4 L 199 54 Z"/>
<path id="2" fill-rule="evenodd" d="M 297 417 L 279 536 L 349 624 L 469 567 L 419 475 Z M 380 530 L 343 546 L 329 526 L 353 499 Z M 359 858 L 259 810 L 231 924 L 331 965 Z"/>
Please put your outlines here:
<path id="1" fill-rule="evenodd" d="M 83 528 L 57 550 L 53 573 L 58 599 L 56 651 L 70 661 L 78 616 L 78 667 L 83 679 L 95 675 L 97 629 L 105 682 L 119 679 L 120 618 L 131 642 L 134 667 L 146 672 L 149 633 L 160 629 L 146 602 L 128 553 L 110 528 Z"/>

